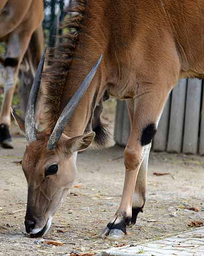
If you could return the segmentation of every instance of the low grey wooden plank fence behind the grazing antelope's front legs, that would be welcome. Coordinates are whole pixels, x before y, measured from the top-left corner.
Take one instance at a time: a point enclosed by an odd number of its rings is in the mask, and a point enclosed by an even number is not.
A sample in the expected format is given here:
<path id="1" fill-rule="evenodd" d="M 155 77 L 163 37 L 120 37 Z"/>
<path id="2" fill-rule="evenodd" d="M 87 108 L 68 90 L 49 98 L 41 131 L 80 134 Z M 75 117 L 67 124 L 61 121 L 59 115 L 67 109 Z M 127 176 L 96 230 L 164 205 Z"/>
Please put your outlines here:
<path id="1" fill-rule="evenodd" d="M 128 110 L 118 101 L 115 141 L 125 146 L 130 134 Z M 166 102 L 152 149 L 171 153 L 204 155 L 203 81 L 180 79 Z"/>

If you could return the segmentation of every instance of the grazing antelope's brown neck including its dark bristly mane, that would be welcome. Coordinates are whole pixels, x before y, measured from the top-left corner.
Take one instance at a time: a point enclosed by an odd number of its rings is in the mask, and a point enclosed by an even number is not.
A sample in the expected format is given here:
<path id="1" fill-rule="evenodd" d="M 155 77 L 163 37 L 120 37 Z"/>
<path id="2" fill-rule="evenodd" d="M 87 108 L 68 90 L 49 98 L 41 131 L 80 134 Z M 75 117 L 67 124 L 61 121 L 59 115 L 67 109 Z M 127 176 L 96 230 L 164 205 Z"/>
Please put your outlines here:
<path id="1" fill-rule="evenodd" d="M 95 65 L 100 54 L 104 52 L 103 42 L 98 42 L 100 18 L 98 19 L 97 15 L 99 10 L 97 13 L 93 11 L 96 10 L 97 5 L 99 3 L 96 1 L 78 0 L 68 10 L 69 17 L 65 17 L 62 26 L 65 32 L 55 51 L 55 58 L 50 60 L 50 66 L 46 70 L 44 103 L 49 133 L 53 131 L 66 104 Z M 94 109 L 105 92 L 104 75 L 105 68 L 102 61 L 88 91 L 83 95 L 65 127 L 64 133 L 67 136 L 81 135 L 86 130 Z M 105 132 L 104 129 L 102 130 Z"/>

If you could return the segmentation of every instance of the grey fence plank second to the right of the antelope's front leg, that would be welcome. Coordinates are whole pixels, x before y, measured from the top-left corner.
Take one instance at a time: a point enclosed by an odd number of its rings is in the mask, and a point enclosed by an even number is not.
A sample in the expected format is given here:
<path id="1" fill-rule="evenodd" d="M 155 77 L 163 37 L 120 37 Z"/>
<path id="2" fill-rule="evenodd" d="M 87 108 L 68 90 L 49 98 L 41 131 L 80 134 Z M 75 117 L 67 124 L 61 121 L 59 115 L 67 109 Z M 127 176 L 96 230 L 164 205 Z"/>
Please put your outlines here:
<path id="1" fill-rule="evenodd" d="M 187 79 L 180 79 L 172 91 L 167 151 L 180 153 L 183 143 Z"/>

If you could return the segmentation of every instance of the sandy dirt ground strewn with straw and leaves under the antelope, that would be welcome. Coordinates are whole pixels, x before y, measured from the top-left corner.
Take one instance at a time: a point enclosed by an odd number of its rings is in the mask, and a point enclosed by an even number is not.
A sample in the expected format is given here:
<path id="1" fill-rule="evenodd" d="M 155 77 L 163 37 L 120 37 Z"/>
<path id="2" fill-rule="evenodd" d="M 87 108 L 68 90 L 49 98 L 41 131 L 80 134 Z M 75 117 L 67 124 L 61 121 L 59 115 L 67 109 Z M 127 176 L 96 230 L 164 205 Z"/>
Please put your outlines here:
<path id="1" fill-rule="evenodd" d="M 110 123 L 109 117 L 106 122 Z M 120 241 L 102 239 L 101 231 L 120 203 L 124 148 L 90 148 L 78 155 L 78 179 L 55 215 L 50 230 L 43 238 L 30 238 L 24 229 L 27 183 L 18 164 L 26 145 L 24 137 L 14 137 L 14 145 L 14 150 L 0 148 L 0 255 L 98 251 L 171 236 L 188 230 L 191 221 L 204 221 L 203 157 L 151 153 L 147 203 L 137 225 L 128 229 L 128 235 Z M 157 176 L 155 172 L 169 174 Z M 198 211 L 188 210 L 191 206 Z M 63 245 L 45 244 L 54 240 Z"/>

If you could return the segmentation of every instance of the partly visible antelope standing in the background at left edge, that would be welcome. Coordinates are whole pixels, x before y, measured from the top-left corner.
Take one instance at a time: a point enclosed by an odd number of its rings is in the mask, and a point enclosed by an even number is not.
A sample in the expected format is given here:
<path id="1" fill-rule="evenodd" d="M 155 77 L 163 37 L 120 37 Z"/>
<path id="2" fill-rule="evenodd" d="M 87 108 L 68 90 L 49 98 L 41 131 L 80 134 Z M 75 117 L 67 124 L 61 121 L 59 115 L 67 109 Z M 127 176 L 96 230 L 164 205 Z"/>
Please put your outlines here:
<path id="1" fill-rule="evenodd" d="M 24 58 L 24 62 L 27 63 L 25 66 L 27 69 L 29 66 L 33 80 L 43 53 L 43 30 L 41 27 L 43 17 L 42 0 L 2 0 L 0 3 L 0 41 L 7 44 L 5 58 L 0 59 L 4 65 L 4 100 L 0 114 L 0 144 L 5 148 L 13 147 L 8 127 L 11 124 L 10 108 L 20 65 Z M 26 73 L 26 70 L 24 71 Z"/>

